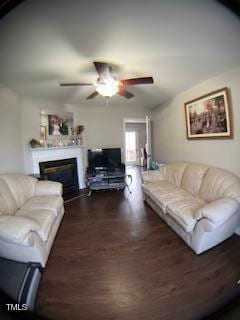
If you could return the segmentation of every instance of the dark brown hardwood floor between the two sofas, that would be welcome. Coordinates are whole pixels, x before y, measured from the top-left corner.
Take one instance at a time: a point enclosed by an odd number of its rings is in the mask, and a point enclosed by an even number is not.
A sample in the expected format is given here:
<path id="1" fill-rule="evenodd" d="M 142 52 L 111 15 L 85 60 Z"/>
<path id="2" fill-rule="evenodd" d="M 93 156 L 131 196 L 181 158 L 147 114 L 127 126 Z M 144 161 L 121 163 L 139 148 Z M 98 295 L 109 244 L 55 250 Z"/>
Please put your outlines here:
<path id="1" fill-rule="evenodd" d="M 36 311 L 51 319 L 202 319 L 240 294 L 240 237 L 195 253 L 127 190 L 66 204 Z"/>

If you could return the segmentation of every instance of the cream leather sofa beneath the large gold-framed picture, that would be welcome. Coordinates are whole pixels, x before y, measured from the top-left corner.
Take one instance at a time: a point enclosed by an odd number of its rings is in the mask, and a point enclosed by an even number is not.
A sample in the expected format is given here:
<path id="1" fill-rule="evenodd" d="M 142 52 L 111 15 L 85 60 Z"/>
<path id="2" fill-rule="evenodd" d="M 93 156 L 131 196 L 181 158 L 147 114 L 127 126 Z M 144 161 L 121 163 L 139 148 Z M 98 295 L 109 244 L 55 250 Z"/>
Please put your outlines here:
<path id="1" fill-rule="evenodd" d="M 230 172 L 175 162 L 143 172 L 142 179 L 144 200 L 197 254 L 234 233 L 240 179 Z"/>

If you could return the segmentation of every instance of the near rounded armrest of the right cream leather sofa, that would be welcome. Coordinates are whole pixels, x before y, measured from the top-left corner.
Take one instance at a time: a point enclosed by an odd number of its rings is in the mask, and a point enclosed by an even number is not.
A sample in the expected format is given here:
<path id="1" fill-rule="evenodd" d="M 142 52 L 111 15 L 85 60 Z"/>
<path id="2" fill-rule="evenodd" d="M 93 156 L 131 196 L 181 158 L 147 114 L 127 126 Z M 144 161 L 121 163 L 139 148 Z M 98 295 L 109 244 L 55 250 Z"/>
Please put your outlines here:
<path id="1" fill-rule="evenodd" d="M 195 212 L 195 218 L 208 219 L 213 225 L 219 226 L 227 221 L 239 209 L 239 204 L 231 198 L 223 198 L 206 204 Z"/>

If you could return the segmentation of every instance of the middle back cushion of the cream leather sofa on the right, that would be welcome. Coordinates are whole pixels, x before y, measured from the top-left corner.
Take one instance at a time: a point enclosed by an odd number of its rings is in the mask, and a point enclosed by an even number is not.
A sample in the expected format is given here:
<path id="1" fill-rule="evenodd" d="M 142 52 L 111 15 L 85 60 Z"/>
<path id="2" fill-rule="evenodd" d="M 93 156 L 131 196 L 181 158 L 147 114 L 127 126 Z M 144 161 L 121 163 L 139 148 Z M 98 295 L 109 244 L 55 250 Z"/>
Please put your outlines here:
<path id="1" fill-rule="evenodd" d="M 204 175 L 208 166 L 202 164 L 189 164 L 182 177 L 182 188 L 193 196 L 198 196 Z"/>

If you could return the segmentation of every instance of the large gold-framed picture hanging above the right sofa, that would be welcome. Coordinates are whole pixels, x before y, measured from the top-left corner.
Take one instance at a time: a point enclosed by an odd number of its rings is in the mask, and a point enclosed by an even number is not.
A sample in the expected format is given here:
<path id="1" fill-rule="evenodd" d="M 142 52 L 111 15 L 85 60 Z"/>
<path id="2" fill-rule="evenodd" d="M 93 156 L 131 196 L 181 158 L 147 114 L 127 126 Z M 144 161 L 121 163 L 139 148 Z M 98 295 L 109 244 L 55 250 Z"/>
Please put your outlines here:
<path id="1" fill-rule="evenodd" d="M 184 107 L 188 139 L 232 138 L 228 88 L 186 102 Z"/>

